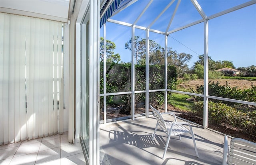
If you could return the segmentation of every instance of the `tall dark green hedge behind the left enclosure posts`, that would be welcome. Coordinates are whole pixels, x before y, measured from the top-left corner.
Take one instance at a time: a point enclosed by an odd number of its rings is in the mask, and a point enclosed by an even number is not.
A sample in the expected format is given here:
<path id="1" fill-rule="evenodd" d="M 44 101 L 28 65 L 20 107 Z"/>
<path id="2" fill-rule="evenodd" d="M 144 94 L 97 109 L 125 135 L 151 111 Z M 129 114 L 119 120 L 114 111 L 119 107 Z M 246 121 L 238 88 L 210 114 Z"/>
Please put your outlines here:
<path id="1" fill-rule="evenodd" d="M 168 89 L 176 88 L 177 74 L 174 66 L 168 66 Z M 164 65 L 149 66 L 149 88 L 164 89 Z M 146 86 L 146 66 L 135 65 L 135 90 L 145 90 Z M 100 63 L 100 93 L 104 92 L 103 88 L 103 63 Z M 130 63 L 106 63 L 106 92 L 127 92 L 131 91 L 131 64 Z M 131 95 L 125 94 L 118 96 L 108 96 L 106 102 L 108 105 L 119 106 L 127 105 L 130 108 Z M 100 102 L 103 102 L 101 98 Z M 150 103 L 161 106 L 164 103 L 164 92 L 150 92 Z M 145 94 L 135 94 L 135 104 L 145 101 Z M 103 104 L 101 104 L 102 109 Z"/>

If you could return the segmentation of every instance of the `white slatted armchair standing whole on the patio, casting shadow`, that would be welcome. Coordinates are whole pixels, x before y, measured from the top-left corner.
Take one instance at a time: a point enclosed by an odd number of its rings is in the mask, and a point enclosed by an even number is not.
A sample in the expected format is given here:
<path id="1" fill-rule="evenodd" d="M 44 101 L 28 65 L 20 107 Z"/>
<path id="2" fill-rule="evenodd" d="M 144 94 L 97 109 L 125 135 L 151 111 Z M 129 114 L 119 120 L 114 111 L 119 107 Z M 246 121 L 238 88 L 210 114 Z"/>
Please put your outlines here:
<path id="1" fill-rule="evenodd" d="M 164 155 L 163 155 L 162 159 L 164 159 L 164 157 L 166 155 L 166 151 L 167 151 L 168 144 L 169 144 L 171 136 L 179 136 L 180 137 L 180 135 L 182 135 L 182 134 L 191 134 L 192 139 L 193 139 L 193 143 L 194 143 L 194 148 L 195 148 L 195 151 L 196 151 L 196 157 L 199 157 L 198 156 L 198 151 L 197 151 L 197 148 L 196 148 L 194 133 L 193 133 L 191 125 L 189 123 L 186 123 L 186 122 L 177 122 L 176 116 L 172 112 L 160 113 L 158 110 L 153 108 L 151 105 L 150 105 L 150 108 L 152 109 L 152 111 L 154 113 L 154 116 L 156 117 L 156 121 L 157 121 L 156 128 L 155 128 L 152 140 L 154 140 L 154 138 L 155 138 L 155 134 L 156 134 L 156 130 L 157 130 L 158 126 L 160 126 L 160 128 L 162 128 L 162 130 L 168 136 L 168 139 L 167 139 L 166 145 L 165 145 L 165 149 L 164 149 Z M 170 114 L 170 115 L 174 116 L 174 122 L 165 122 L 163 117 L 162 117 L 162 114 Z M 184 125 L 189 126 L 190 129 L 186 128 Z M 181 140 L 181 137 L 180 137 L 180 140 Z"/>

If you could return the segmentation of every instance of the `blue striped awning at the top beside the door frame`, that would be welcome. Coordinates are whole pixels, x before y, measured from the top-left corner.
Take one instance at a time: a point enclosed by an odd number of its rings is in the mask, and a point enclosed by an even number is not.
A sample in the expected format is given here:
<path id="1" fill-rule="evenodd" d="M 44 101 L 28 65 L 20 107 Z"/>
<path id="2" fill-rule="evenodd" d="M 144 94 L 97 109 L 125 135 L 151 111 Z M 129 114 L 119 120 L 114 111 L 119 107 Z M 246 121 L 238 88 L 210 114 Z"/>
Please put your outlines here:
<path id="1" fill-rule="evenodd" d="M 127 4 L 130 1 L 132 0 L 114 0 L 114 2 L 112 2 L 112 4 L 108 7 L 108 10 L 106 10 L 105 14 L 102 16 L 102 18 L 100 18 L 100 28 L 103 24 L 107 22 L 108 18 L 110 18 L 112 14 L 118 10 L 118 8 L 120 8 L 124 4 Z M 122 5 L 120 5 L 121 3 Z"/>

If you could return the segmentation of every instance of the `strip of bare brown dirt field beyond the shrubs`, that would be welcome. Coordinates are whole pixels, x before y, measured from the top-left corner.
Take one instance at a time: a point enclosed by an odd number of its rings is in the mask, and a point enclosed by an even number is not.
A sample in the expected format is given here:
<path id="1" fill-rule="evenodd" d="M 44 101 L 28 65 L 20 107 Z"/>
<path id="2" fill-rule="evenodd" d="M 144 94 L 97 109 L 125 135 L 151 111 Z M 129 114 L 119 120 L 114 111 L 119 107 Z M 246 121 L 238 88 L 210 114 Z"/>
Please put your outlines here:
<path id="1" fill-rule="evenodd" d="M 213 80 L 209 80 L 209 82 L 210 81 L 212 81 L 212 82 L 218 81 L 220 83 L 220 85 L 225 85 L 226 82 L 228 82 L 229 86 L 231 86 L 231 87 L 237 86 L 238 89 L 250 88 L 252 84 L 254 86 L 256 86 L 256 81 L 248 81 L 248 80 L 213 79 Z M 191 90 L 190 88 L 192 88 L 193 90 L 195 90 L 196 86 L 204 85 L 204 80 L 201 80 L 201 79 L 189 80 L 189 81 L 180 79 L 179 82 L 181 82 L 181 83 L 177 85 L 177 90 L 182 89 L 182 88 L 184 88 L 186 90 Z"/>

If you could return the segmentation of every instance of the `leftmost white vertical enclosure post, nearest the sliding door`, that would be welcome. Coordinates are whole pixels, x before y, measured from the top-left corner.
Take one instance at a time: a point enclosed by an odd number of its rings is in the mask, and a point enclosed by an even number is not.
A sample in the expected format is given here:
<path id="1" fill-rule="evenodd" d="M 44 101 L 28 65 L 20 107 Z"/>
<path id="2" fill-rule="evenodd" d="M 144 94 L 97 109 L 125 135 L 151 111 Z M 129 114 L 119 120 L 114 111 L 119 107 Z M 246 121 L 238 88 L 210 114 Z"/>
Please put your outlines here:
<path id="1" fill-rule="evenodd" d="M 106 105 L 106 23 L 104 24 L 104 63 L 103 63 L 103 86 L 104 86 L 104 124 L 107 123 L 107 105 Z"/>

